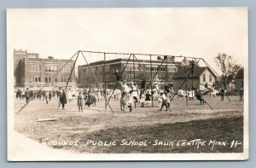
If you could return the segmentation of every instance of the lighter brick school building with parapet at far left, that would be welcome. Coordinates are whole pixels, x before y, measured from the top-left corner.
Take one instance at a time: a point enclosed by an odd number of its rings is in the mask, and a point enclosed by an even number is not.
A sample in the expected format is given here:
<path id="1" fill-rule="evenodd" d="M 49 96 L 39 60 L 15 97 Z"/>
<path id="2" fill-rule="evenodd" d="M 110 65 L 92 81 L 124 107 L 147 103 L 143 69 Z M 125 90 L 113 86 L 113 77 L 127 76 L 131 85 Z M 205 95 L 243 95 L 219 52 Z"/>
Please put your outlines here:
<path id="1" fill-rule="evenodd" d="M 54 59 L 49 56 L 48 59 L 39 58 L 37 53 L 28 53 L 26 50 L 14 50 L 14 68 L 15 68 L 15 87 L 30 88 L 30 90 L 39 90 L 44 84 L 53 78 L 68 60 Z M 45 86 L 44 90 L 58 90 L 67 84 L 70 72 L 72 71 L 74 61 L 67 63 L 61 72 Z M 71 75 L 68 87 L 74 87 L 75 72 Z"/>

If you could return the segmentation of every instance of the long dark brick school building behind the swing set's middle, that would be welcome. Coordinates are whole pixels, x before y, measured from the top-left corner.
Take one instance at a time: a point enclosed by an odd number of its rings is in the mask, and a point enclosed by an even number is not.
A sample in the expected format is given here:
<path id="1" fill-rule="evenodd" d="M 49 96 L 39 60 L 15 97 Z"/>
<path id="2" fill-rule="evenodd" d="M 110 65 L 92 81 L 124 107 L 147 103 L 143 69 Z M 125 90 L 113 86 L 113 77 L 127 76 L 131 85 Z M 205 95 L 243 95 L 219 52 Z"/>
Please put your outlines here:
<path id="1" fill-rule="evenodd" d="M 91 71 L 95 74 L 97 81 L 100 86 L 103 88 L 104 86 L 104 77 L 106 77 L 106 87 L 107 89 L 113 89 L 116 85 L 117 79 L 113 74 L 113 71 L 122 70 L 125 68 L 125 72 L 123 73 L 123 80 L 127 82 L 135 82 L 138 86 L 141 84 L 143 79 L 146 79 L 149 83 L 151 78 L 152 70 L 152 78 L 154 78 L 154 82 L 172 82 L 172 75 L 177 72 L 177 67 L 172 61 L 164 61 L 162 67 L 160 67 L 161 60 L 152 61 L 150 66 L 150 61 L 148 60 L 138 60 L 138 62 L 142 65 L 139 65 L 137 60 L 134 61 L 131 59 L 125 67 L 128 59 L 114 59 L 105 62 L 105 72 L 104 72 L 104 61 L 96 61 L 90 63 Z M 176 62 L 178 66 L 181 65 L 181 62 Z M 87 65 L 79 66 L 79 87 L 85 88 L 97 88 L 96 80 L 94 79 L 92 73 L 90 72 L 90 68 Z M 143 71 L 147 72 L 147 74 Z M 157 74 L 156 72 L 159 71 Z M 149 77 L 149 78 L 148 78 Z"/>

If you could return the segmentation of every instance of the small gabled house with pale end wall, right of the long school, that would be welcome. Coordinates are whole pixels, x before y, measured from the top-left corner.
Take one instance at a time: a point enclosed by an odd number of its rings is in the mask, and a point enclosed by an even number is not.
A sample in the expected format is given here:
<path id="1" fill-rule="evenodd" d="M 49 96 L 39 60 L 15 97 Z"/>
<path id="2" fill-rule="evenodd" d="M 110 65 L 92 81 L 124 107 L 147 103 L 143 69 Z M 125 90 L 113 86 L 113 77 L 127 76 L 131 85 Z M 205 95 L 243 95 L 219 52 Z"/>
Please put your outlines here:
<path id="1" fill-rule="evenodd" d="M 185 77 L 183 74 L 185 74 L 186 76 L 189 75 L 189 72 L 191 72 L 191 68 L 188 69 L 181 69 L 181 71 L 183 72 L 176 72 L 172 79 L 174 80 L 174 90 L 177 90 L 185 81 Z M 195 88 L 199 89 L 199 90 L 205 90 L 205 84 L 207 84 L 208 88 L 212 87 L 212 84 L 215 83 L 216 85 L 216 76 L 214 75 L 214 73 L 208 68 L 208 67 L 195 67 L 194 70 L 194 74 L 192 75 L 192 73 L 190 73 L 189 75 L 189 80 L 187 80 L 187 88 L 188 90 L 192 90 L 193 85 L 195 86 Z M 189 81 L 191 83 L 189 83 Z M 183 90 L 186 90 L 186 84 L 184 83 L 182 86 Z"/>

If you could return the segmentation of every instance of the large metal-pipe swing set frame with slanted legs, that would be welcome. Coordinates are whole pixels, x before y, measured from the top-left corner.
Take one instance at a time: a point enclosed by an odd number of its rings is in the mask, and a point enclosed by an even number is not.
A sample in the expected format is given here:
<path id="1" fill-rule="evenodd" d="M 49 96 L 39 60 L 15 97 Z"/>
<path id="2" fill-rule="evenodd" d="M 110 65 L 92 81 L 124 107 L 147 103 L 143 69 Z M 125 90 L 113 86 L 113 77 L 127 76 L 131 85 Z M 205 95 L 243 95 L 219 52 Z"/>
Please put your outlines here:
<path id="1" fill-rule="evenodd" d="M 104 57 L 104 61 L 103 61 L 103 62 L 104 62 L 104 64 L 103 64 L 103 74 L 104 74 L 104 76 L 103 76 L 103 81 L 104 81 L 104 85 L 103 85 L 103 88 L 102 88 L 101 85 L 99 84 L 98 79 L 96 78 L 95 73 L 92 71 L 92 68 L 90 67 L 90 62 L 86 59 L 86 55 L 88 56 L 88 55 L 90 55 L 91 53 L 93 53 L 93 54 L 100 54 L 100 55 L 103 55 L 103 57 Z M 59 69 L 59 71 L 55 72 L 55 74 L 53 75 L 53 77 L 49 78 L 49 80 L 48 80 L 47 83 L 45 83 L 39 90 L 36 90 L 35 92 L 33 92 L 33 96 L 36 96 L 36 95 L 38 94 L 38 92 L 41 91 L 41 90 L 43 90 L 44 87 L 45 87 L 47 84 L 51 83 L 51 82 L 55 79 L 56 75 L 57 75 L 59 72 L 61 72 L 61 70 L 62 70 L 64 67 L 66 67 L 67 64 L 68 64 L 70 61 L 72 61 L 74 57 L 76 57 L 76 58 L 75 58 L 75 61 L 74 61 L 74 63 L 73 63 L 72 71 L 71 71 L 70 74 L 69 74 L 69 78 L 68 78 L 68 80 L 67 80 L 67 84 L 66 84 L 66 87 L 65 87 L 65 90 L 67 90 L 68 83 L 69 83 L 69 81 L 70 81 L 70 79 L 71 79 L 71 77 L 72 77 L 72 73 L 73 73 L 74 67 L 75 67 L 75 65 L 76 65 L 76 62 L 77 62 L 77 60 L 78 60 L 78 58 L 79 58 L 79 55 L 81 55 L 81 56 L 84 58 L 84 61 L 85 61 L 86 65 L 87 65 L 87 67 L 89 68 L 91 75 L 93 76 L 94 80 L 96 81 L 97 88 L 100 89 L 100 90 L 105 90 L 105 92 L 106 92 L 106 90 L 107 90 L 107 84 L 106 84 L 106 83 L 107 83 L 107 81 L 106 81 L 106 55 L 128 55 L 128 56 L 129 56 L 129 57 L 128 57 L 128 60 L 125 62 L 125 67 L 124 67 L 124 68 L 122 69 L 122 71 L 120 72 L 120 75 L 123 76 L 123 74 L 124 74 L 124 72 L 125 72 L 125 69 L 126 69 L 126 66 L 128 65 L 128 63 L 129 63 L 129 62 L 131 61 L 131 59 L 132 59 L 132 66 L 133 66 L 133 83 L 135 83 L 135 80 L 136 80 L 136 79 L 135 79 L 135 63 L 137 63 L 138 66 L 141 67 L 141 69 L 143 70 L 145 76 L 148 78 L 149 86 L 150 86 L 151 91 L 153 90 L 154 78 L 155 78 L 156 75 L 160 72 L 160 70 L 164 69 L 164 63 L 165 63 L 165 62 L 166 62 L 166 82 L 167 82 L 167 78 L 168 78 L 168 68 L 167 68 L 167 67 L 168 67 L 168 62 L 171 62 L 173 65 L 175 65 L 175 67 L 177 67 L 177 70 L 178 70 L 179 72 L 181 72 L 181 74 L 183 75 L 183 78 L 185 78 L 185 79 L 183 80 L 183 83 L 178 87 L 178 89 L 181 89 L 181 88 L 183 87 L 183 84 L 185 84 L 185 87 L 186 87 L 186 94 L 187 94 L 188 83 L 192 86 L 193 89 L 196 89 L 195 84 L 193 83 L 194 71 L 195 71 L 195 67 L 198 65 L 198 63 L 199 63 L 200 61 L 203 61 L 203 63 L 207 66 L 207 68 L 209 68 L 209 69 L 214 73 L 214 75 L 215 75 L 216 77 L 218 77 L 224 84 L 226 84 L 226 86 L 227 86 L 230 90 L 232 90 L 232 91 L 236 94 L 236 91 L 235 91 L 236 88 L 235 88 L 235 89 L 231 89 L 231 88 L 229 87 L 229 85 L 224 81 L 224 79 L 221 78 L 221 77 L 218 75 L 218 73 L 217 73 L 217 72 L 207 63 L 207 61 L 205 61 L 203 58 L 196 58 L 196 57 L 191 57 L 191 56 L 189 57 L 189 56 L 182 56 L 182 55 L 180 55 L 180 56 L 175 56 L 175 55 L 131 54 L 131 53 L 113 53 L 113 52 L 100 52 L 100 51 L 79 50 L 79 51 L 77 51 L 77 52 Z M 150 61 L 150 74 L 148 74 L 148 72 L 145 70 L 145 68 L 144 68 L 143 65 L 142 65 L 142 62 L 137 59 L 137 55 L 139 55 L 139 56 L 149 56 L 149 61 Z M 158 60 L 161 60 L 160 66 L 157 68 L 157 71 L 154 73 L 154 76 L 153 76 L 153 68 L 152 68 L 152 57 L 153 57 L 153 56 L 157 56 L 157 59 L 158 59 Z M 183 69 L 184 69 L 184 71 L 183 71 L 181 68 L 179 68 L 180 66 L 177 65 L 177 62 L 174 61 L 175 58 L 184 58 L 185 60 L 186 60 L 186 59 L 192 59 L 192 61 L 191 61 L 191 62 L 192 62 L 192 63 L 191 63 L 191 67 L 185 66 L 185 68 L 183 68 Z M 188 69 L 189 69 L 189 73 L 187 74 L 187 70 L 188 70 Z M 190 77 L 192 77 L 191 80 L 189 79 Z M 216 81 L 218 82 L 218 84 L 219 84 L 219 86 L 221 87 L 221 89 L 224 90 L 224 87 L 222 86 L 222 84 L 220 84 L 220 82 L 219 82 L 218 80 L 216 80 Z M 109 101 L 110 101 L 111 97 L 113 96 L 113 92 L 114 92 L 115 90 L 117 90 L 118 84 L 119 84 L 119 82 L 117 82 L 117 83 L 115 84 L 115 86 L 114 86 L 114 88 L 113 88 L 113 91 L 112 91 L 111 95 L 110 95 L 108 98 L 107 98 L 106 94 L 103 94 L 104 100 L 105 100 L 105 102 L 104 102 L 104 103 L 105 103 L 105 111 L 107 111 L 107 107 L 109 107 L 110 110 L 111 110 L 111 112 L 113 113 L 113 115 L 114 115 L 115 113 L 114 113 L 113 108 L 111 107 Z M 199 91 L 197 92 L 197 94 L 199 94 L 199 96 L 201 96 L 202 99 L 205 100 L 205 98 L 201 95 L 201 93 L 200 93 Z M 170 98 L 170 100 L 173 101 L 173 98 L 174 98 L 175 96 L 177 96 L 177 94 L 174 94 L 174 95 Z M 226 97 L 228 98 L 228 100 L 230 101 L 229 96 L 227 96 L 227 95 L 225 95 L 225 96 L 226 96 Z M 236 94 L 236 96 L 238 96 L 238 97 L 240 98 L 239 95 Z M 153 107 L 153 97 L 151 97 L 151 101 L 152 101 L 151 103 L 152 103 L 152 107 Z M 210 107 L 210 108 L 212 109 L 212 107 L 209 105 L 209 103 L 208 103 L 207 101 L 205 101 L 205 102 L 207 103 L 208 107 Z M 231 101 L 230 101 L 230 102 L 231 102 Z M 28 104 L 28 103 L 26 103 L 23 107 L 21 107 L 20 110 L 19 110 L 16 114 L 20 113 L 20 112 L 22 111 L 22 109 L 23 109 L 24 107 L 26 107 L 27 104 Z M 186 105 L 187 105 L 187 106 L 189 105 L 189 103 L 188 103 L 188 98 L 186 99 Z M 135 107 L 136 107 L 136 104 L 135 104 Z M 171 111 L 171 108 L 168 107 L 168 110 Z"/>

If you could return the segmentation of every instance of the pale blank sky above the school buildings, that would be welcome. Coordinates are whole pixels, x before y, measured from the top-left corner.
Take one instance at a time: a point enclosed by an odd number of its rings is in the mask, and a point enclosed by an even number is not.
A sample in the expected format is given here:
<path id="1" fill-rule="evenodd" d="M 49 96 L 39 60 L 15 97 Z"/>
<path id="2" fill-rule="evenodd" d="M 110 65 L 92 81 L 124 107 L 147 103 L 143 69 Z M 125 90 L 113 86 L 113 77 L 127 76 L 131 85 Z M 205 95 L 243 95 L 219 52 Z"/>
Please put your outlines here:
<path id="1" fill-rule="evenodd" d="M 196 56 L 214 67 L 224 52 L 247 65 L 246 8 L 10 9 L 7 22 L 9 56 L 27 49 L 68 59 L 83 49 Z"/>

